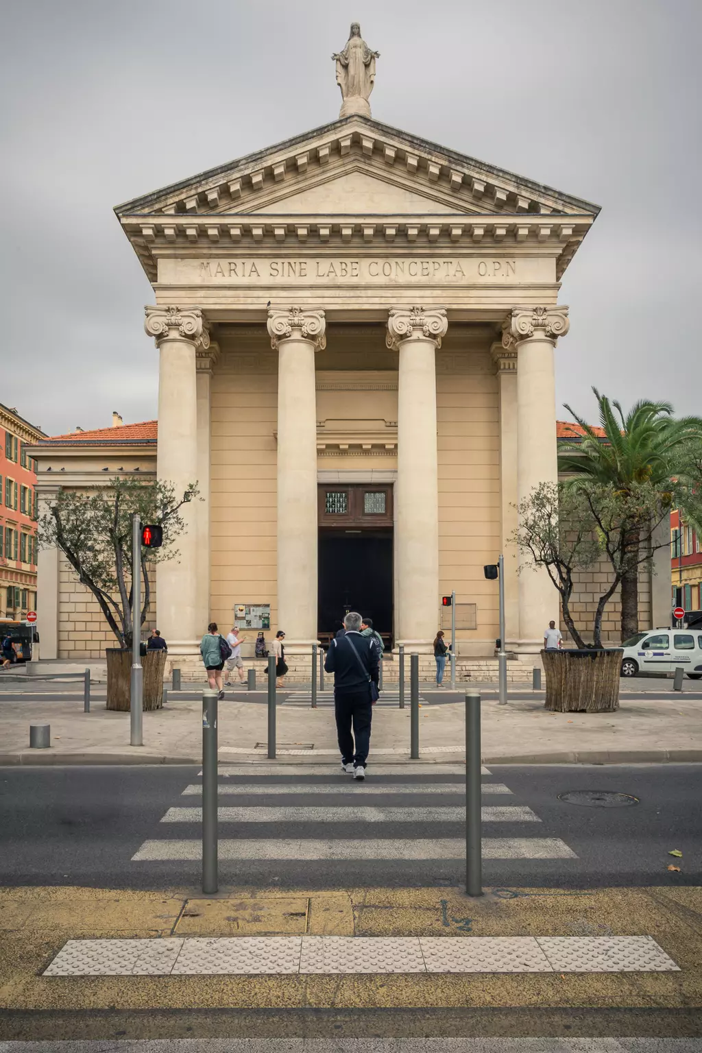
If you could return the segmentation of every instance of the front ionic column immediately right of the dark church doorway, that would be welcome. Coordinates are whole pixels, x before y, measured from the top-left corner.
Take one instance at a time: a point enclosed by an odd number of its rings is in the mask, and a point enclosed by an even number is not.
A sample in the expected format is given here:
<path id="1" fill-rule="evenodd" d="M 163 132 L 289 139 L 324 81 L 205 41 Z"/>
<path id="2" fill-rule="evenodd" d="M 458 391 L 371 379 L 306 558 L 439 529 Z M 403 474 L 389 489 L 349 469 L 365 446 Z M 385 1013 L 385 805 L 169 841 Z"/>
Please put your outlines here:
<path id="1" fill-rule="evenodd" d="M 429 653 L 439 607 L 436 350 L 443 309 L 392 310 L 386 344 L 400 353 L 395 532 L 396 643 Z"/>

